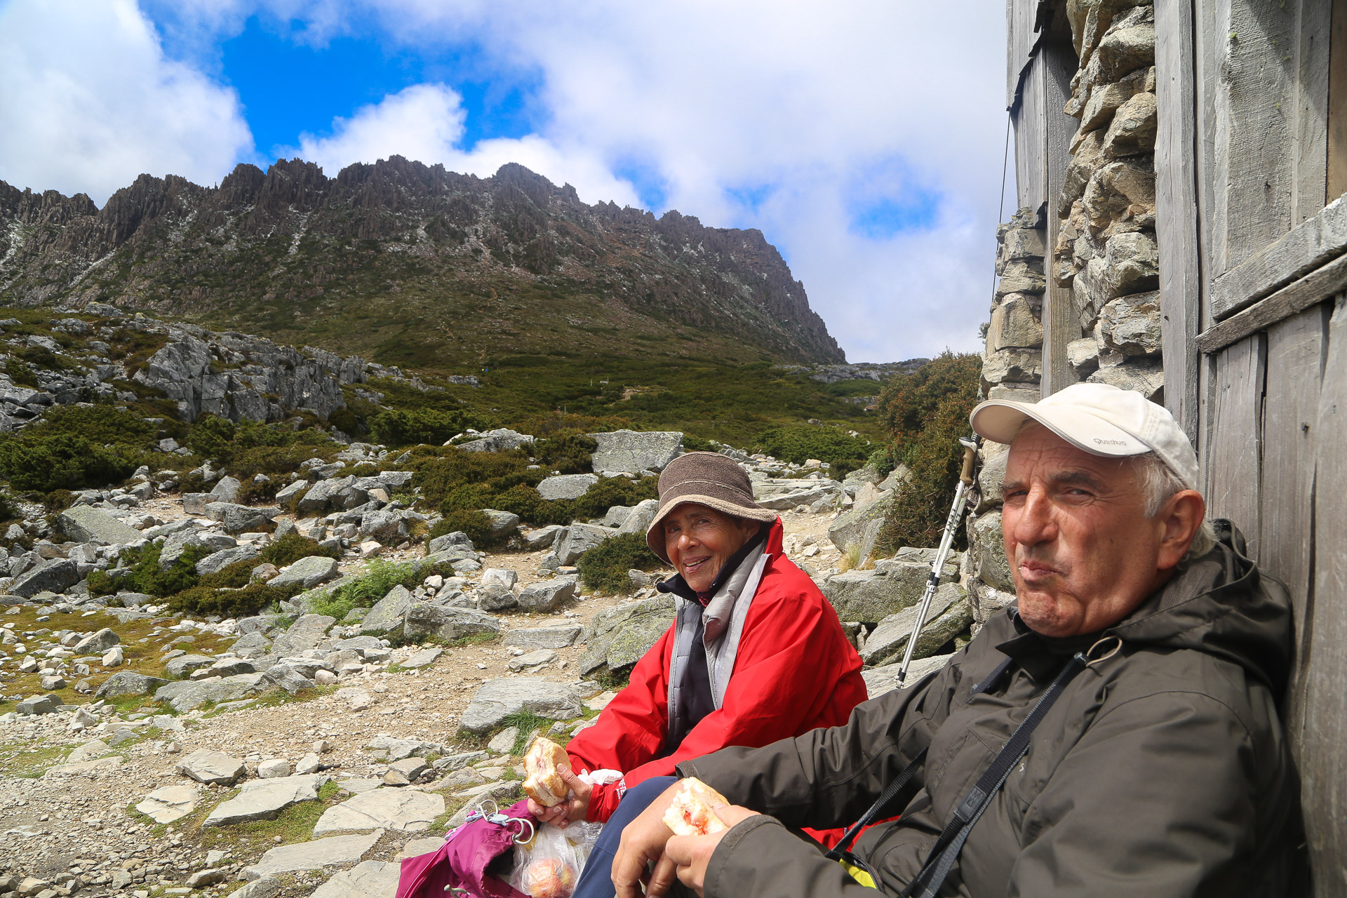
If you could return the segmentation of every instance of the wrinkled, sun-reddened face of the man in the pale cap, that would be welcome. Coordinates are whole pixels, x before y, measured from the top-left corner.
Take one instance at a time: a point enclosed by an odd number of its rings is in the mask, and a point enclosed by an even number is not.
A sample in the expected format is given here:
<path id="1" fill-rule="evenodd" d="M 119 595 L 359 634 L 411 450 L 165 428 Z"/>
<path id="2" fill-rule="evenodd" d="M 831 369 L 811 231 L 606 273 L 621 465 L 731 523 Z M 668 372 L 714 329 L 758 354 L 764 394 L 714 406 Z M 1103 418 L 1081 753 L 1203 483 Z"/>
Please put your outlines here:
<path id="1" fill-rule="evenodd" d="M 1010 444 L 1002 497 L 1020 617 L 1037 633 L 1102 630 L 1164 582 L 1165 524 L 1146 517 L 1130 459 L 1091 455 L 1033 424 Z"/>

